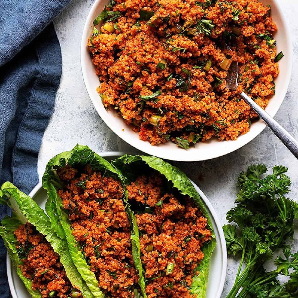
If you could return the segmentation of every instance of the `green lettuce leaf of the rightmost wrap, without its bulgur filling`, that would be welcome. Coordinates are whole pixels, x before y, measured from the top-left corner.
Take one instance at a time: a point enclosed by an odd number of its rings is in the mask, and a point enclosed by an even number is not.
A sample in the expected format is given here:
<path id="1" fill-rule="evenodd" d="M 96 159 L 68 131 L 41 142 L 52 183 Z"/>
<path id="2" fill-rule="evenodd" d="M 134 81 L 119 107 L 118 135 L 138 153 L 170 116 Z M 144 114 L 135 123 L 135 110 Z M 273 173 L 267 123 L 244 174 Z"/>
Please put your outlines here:
<path id="1" fill-rule="evenodd" d="M 202 252 L 205 256 L 195 269 L 196 271 L 199 271 L 199 274 L 193 278 L 190 292 L 196 294 L 198 298 L 204 298 L 206 296 L 210 258 L 215 249 L 216 239 L 211 218 L 193 184 L 190 182 L 186 174 L 179 170 L 179 168 L 154 156 L 132 156 L 125 154 L 111 163 L 115 168 L 122 172 L 125 184 L 130 184 L 140 173 L 145 173 L 146 168 L 148 170 L 148 166 L 159 171 L 159 173 L 163 174 L 168 181 L 172 182 L 173 187 L 177 188 L 181 194 L 190 196 L 194 203 L 201 209 L 204 217 L 207 218 L 208 228 L 212 232 L 212 239 L 202 247 Z M 138 235 L 138 232 L 136 235 Z"/>

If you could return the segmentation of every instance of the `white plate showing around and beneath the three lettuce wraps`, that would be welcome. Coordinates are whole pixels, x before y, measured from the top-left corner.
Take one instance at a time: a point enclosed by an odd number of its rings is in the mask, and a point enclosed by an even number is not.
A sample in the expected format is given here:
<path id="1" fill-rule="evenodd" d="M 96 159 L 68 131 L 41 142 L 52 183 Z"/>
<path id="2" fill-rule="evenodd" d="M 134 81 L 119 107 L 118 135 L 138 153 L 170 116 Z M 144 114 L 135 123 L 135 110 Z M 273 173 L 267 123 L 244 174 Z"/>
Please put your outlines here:
<path id="1" fill-rule="evenodd" d="M 111 160 L 123 155 L 123 152 L 103 152 L 100 156 L 107 160 Z M 193 182 L 192 182 L 193 183 Z M 204 193 L 193 183 L 197 192 L 201 195 L 201 198 L 206 206 L 206 209 L 211 217 L 213 228 L 215 231 L 217 243 L 215 250 L 212 254 L 210 260 L 210 271 L 209 271 L 209 281 L 207 285 L 206 298 L 220 298 L 221 293 L 224 288 L 224 282 L 226 279 L 226 266 L 227 266 L 227 253 L 226 253 L 226 242 L 224 239 L 224 232 L 221 227 L 221 223 L 217 217 L 217 214 L 212 207 L 211 203 L 208 201 Z M 46 203 L 46 191 L 42 188 L 42 184 L 37 184 L 32 192 L 29 194 L 38 205 L 44 209 Z M 13 267 L 10 258 L 7 254 L 7 277 L 10 287 L 10 291 L 13 298 L 31 298 L 27 289 L 25 288 L 23 282 L 19 279 L 16 274 L 16 270 Z"/>

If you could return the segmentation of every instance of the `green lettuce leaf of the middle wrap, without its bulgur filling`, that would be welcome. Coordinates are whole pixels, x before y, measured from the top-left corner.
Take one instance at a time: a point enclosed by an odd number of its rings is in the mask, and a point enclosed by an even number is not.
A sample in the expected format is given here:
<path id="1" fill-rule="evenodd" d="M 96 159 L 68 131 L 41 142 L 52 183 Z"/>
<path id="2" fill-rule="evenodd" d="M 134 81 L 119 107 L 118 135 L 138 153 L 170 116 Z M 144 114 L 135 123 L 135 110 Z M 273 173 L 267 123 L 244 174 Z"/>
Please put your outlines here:
<path id="1" fill-rule="evenodd" d="M 94 297 L 103 298 L 105 295 L 100 290 L 95 274 L 90 270 L 90 266 L 86 262 L 86 258 L 81 252 L 80 244 L 77 243 L 72 235 L 72 228 L 68 215 L 63 211 L 62 200 L 58 196 L 57 189 L 63 186 L 60 181 L 56 169 L 66 164 L 74 167 L 82 167 L 89 164 L 94 170 L 102 172 L 105 176 L 119 178 L 119 171 L 115 169 L 109 162 L 98 154 L 94 153 L 88 146 L 76 145 L 71 151 L 63 152 L 53 157 L 46 165 L 46 171 L 43 176 L 43 187 L 47 190 L 48 201 L 47 206 L 54 206 L 55 211 L 48 212 L 51 218 L 52 228 L 54 230 L 63 230 L 63 234 L 68 243 L 69 253 L 77 267 L 83 280 L 85 280 Z M 50 207 L 49 207 L 50 208 Z"/>

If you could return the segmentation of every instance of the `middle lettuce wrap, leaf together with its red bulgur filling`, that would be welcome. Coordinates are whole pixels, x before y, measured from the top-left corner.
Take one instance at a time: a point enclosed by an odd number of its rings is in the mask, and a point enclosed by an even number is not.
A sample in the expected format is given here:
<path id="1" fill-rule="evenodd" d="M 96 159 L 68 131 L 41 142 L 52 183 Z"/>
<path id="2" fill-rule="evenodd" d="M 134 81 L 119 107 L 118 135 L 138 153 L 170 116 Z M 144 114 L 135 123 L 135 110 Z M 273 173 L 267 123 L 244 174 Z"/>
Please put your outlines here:
<path id="1" fill-rule="evenodd" d="M 43 176 L 52 229 L 66 238 L 72 260 L 94 297 L 145 293 L 136 221 L 124 203 L 122 180 L 108 161 L 80 145 L 53 157 Z M 116 283 L 119 279 L 125 288 Z"/>

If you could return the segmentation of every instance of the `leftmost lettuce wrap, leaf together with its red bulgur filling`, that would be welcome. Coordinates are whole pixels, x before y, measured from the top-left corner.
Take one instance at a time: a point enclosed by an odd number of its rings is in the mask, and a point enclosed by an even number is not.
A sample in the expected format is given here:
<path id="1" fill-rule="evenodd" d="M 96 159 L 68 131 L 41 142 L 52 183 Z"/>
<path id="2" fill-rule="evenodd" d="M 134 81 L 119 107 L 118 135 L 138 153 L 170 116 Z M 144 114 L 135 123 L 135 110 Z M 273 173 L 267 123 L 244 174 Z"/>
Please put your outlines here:
<path id="1" fill-rule="evenodd" d="M 31 296 L 94 298 L 44 210 L 10 182 L 1 187 L 0 204 L 12 209 L 1 221 L 0 236 Z"/>

